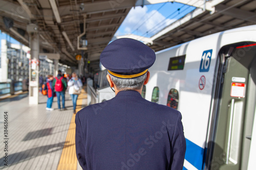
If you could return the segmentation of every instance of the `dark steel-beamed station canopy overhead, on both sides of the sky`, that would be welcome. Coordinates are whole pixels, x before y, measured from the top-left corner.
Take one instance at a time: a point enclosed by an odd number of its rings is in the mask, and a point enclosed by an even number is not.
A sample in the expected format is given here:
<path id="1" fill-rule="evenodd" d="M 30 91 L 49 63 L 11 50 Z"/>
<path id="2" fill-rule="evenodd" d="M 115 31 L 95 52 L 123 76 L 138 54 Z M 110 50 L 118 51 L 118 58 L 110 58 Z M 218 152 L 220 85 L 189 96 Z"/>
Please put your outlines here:
<path id="1" fill-rule="evenodd" d="M 82 49 L 85 61 L 90 61 L 93 70 L 98 71 L 100 53 L 131 8 L 166 2 L 196 8 L 145 38 L 144 43 L 155 51 L 256 24 L 256 1 L 253 0 L 0 0 L 0 29 L 29 46 L 27 29 L 34 27 L 39 34 L 40 53 L 59 53 L 60 62 L 75 66 L 75 56 L 81 54 L 79 49 Z"/>

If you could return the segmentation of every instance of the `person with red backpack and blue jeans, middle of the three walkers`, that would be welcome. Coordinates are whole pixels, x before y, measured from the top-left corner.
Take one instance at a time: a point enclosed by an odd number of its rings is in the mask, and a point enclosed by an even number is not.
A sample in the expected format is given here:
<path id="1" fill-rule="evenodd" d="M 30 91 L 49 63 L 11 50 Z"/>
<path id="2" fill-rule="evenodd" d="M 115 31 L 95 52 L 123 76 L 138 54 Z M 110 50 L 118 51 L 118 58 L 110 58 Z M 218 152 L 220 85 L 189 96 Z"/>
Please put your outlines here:
<path id="1" fill-rule="evenodd" d="M 61 107 L 60 107 L 60 95 L 61 95 L 62 110 L 67 110 L 67 108 L 65 107 L 65 91 L 67 89 L 67 82 L 63 79 L 60 70 L 58 70 L 58 75 L 53 80 L 53 87 L 57 95 L 58 109 L 61 110 Z"/>

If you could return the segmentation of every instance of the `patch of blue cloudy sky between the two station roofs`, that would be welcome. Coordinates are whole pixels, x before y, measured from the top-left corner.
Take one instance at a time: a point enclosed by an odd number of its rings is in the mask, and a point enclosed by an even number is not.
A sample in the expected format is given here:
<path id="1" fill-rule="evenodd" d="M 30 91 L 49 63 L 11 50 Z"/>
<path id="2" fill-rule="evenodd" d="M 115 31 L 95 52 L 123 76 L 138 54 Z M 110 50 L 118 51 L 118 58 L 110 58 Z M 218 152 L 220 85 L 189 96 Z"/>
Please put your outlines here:
<path id="1" fill-rule="evenodd" d="M 152 37 L 194 9 L 195 7 L 170 2 L 132 8 L 115 36 L 135 34 Z"/>

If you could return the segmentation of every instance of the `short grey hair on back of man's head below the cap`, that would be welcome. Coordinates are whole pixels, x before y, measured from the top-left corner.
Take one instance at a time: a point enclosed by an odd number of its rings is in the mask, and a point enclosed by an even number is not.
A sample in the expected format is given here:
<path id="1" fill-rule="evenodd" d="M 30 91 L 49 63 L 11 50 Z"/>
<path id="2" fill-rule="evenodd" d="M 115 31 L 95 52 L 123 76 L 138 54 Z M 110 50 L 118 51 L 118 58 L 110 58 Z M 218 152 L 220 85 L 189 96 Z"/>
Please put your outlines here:
<path id="1" fill-rule="evenodd" d="M 109 71 L 108 75 L 110 75 L 111 80 L 115 84 L 118 90 L 138 90 L 143 86 L 144 81 L 146 80 L 147 74 L 144 74 L 140 77 L 132 78 L 132 79 L 121 79 L 112 76 Z"/>

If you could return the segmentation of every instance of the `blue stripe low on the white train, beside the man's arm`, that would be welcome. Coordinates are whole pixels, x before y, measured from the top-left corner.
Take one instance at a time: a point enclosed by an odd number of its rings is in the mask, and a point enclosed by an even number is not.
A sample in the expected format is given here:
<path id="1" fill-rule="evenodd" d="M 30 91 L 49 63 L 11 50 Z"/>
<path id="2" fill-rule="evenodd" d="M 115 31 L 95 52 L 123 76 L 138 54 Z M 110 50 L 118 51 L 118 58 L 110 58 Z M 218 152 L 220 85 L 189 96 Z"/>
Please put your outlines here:
<path id="1" fill-rule="evenodd" d="M 188 139 L 186 139 L 186 145 L 187 145 L 187 148 L 186 148 L 185 159 L 189 163 L 193 164 L 193 166 L 195 166 L 197 169 L 202 169 L 204 149 L 199 147 L 199 145 L 191 142 Z"/>

